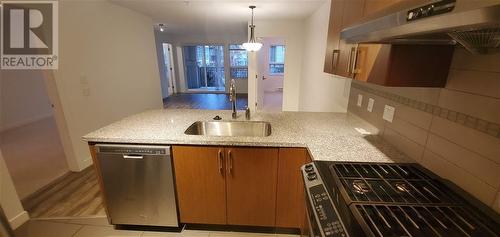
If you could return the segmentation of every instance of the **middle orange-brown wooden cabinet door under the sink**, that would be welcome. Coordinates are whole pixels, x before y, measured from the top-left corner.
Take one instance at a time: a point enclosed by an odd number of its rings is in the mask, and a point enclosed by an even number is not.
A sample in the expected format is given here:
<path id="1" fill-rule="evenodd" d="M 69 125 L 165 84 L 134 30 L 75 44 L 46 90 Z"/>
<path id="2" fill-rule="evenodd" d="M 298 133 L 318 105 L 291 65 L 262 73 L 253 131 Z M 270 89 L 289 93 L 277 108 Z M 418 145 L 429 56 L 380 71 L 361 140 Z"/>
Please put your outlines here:
<path id="1" fill-rule="evenodd" d="M 226 148 L 227 223 L 275 226 L 278 148 Z"/>

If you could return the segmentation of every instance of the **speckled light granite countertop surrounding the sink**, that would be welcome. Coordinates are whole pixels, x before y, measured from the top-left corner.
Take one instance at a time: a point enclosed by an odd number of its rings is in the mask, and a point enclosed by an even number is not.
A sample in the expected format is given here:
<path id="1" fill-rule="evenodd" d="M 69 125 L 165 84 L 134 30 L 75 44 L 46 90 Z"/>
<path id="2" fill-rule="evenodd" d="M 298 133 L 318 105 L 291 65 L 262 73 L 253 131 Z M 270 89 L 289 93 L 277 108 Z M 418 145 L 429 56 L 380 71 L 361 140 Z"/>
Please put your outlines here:
<path id="1" fill-rule="evenodd" d="M 238 121 L 245 121 L 238 111 Z M 252 121 L 271 123 L 268 137 L 186 135 L 195 121 L 216 115 L 231 119 L 229 110 L 150 110 L 124 118 L 83 137 L 93 143 L 190 144 L 223 146 L 305 147 L 313 160 L 353 162 L 409 162 L 404 154 L 377 135 L 377 129 L 352 114 L 311 112 L 260 112 Z M 361 132 L 360 132 L 361 131 Z"/>

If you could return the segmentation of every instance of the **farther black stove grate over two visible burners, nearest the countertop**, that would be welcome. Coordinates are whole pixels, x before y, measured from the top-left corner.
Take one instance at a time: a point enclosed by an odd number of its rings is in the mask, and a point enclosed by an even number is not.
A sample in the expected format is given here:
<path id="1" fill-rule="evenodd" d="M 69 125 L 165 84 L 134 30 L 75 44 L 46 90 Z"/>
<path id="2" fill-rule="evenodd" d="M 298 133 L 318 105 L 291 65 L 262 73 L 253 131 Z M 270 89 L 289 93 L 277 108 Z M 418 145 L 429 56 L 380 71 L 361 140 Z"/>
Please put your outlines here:
<path id="1" fill-rule="evenodd" d="M 459 202 L 445 186 L 410 165 L 339 163 L 330 169 L 351 202 Z"/>

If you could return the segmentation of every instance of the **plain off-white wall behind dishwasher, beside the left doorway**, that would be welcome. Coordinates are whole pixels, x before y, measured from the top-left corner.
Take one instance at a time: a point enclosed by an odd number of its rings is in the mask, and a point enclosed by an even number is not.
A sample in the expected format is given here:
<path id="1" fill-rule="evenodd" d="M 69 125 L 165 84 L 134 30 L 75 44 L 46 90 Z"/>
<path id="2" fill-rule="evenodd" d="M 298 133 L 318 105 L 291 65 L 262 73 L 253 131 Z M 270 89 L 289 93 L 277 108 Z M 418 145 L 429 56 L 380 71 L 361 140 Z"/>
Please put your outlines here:
<path id="1" fill-rule="evenodd" d="M 147 109 L 162 96 L 153 21 L 107 1 L 59 2 L 59 69 L 54 80 L 76 159 L 91 164 L 88 132 Z M 64 137 L 63 137 L 64 138 Z"/>

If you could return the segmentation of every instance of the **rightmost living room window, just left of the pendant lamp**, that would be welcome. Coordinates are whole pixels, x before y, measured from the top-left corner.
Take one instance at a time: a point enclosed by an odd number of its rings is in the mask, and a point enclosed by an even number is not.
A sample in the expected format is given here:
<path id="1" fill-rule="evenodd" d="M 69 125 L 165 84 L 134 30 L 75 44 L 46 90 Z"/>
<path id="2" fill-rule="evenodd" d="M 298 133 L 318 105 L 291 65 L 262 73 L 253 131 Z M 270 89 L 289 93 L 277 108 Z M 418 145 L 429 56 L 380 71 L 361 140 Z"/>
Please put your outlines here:
<path id="1" fill-rule="evenodd" d="M 248 55 L 241 45 L 229 45 L 229 64 L 231 79 L 248 78 Z"/>

